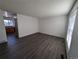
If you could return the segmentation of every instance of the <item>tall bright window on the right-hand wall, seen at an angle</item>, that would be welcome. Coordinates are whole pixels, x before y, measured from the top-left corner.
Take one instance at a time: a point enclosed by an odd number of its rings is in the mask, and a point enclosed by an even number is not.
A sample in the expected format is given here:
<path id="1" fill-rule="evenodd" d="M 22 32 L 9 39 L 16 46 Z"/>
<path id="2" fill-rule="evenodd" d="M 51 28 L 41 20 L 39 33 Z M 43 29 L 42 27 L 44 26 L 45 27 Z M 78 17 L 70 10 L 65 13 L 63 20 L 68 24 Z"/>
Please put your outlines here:
<path id="1" fill-rule="evenodd" d="M 74 29 L 76 12 L 77 12 L 77 10 L 74 11 L 69 17 L 69 26 L 68 26 L 68 32 L 67 32 L 68 50 L 70 49 L 70 45 L 71 45 L 71 41 L 72 41 L 72 33 L 73 33 L 73 29 Z"/>

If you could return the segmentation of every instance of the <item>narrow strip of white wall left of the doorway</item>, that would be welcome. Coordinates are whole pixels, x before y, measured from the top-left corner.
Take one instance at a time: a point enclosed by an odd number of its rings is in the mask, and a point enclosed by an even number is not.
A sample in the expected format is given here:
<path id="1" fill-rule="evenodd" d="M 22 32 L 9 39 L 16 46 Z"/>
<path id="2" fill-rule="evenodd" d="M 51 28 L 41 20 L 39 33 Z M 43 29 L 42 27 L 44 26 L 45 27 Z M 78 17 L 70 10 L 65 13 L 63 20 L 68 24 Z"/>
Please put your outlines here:
<path id="1" fill-rule="evenodd" d="M 5 32 L 5 26 L 3 22 L 3 12 L 0 10 L 0 43 L 6 42 L 6 32 Z"/>

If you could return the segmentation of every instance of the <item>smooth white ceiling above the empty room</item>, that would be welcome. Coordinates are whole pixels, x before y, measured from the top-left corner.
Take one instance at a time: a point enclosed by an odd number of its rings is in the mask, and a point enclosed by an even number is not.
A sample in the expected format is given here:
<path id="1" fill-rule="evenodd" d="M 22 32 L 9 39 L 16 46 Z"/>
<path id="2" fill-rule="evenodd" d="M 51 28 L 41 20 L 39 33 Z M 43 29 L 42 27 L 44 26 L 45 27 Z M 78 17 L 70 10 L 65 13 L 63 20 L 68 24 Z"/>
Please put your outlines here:
<path id="1" fill-rule="evenodd" d="M 0 0 L 0 8 L 33 17 L 68 14 L 75 0 Z"/>

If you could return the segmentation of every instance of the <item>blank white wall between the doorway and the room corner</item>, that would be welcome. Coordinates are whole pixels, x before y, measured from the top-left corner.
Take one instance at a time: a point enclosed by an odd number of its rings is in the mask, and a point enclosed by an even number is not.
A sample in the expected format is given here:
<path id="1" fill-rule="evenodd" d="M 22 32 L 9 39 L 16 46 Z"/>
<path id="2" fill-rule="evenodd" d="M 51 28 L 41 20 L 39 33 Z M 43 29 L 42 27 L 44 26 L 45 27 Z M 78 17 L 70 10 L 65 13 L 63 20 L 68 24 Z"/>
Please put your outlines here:
<path id="1" fill-rule="evenodd" d="M 38 19 L 17 14 L 19 37 L 38 32 Z"/>

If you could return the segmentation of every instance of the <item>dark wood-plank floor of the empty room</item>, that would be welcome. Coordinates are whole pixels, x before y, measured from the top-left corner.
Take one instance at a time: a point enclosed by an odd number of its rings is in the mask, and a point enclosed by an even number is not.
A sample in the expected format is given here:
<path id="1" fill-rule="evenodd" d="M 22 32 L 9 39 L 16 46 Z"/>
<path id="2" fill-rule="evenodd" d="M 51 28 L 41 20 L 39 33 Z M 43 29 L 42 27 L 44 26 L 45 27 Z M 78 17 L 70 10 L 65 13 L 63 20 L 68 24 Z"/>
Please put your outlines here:
<path id="1" fill-rule="evenodd" d="M 42 33 L 7 38 L 7 43 L 0 44 L 0 59 L 66 59 L 63 38 Z"/>

